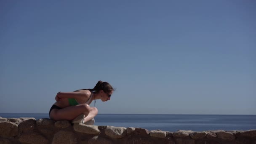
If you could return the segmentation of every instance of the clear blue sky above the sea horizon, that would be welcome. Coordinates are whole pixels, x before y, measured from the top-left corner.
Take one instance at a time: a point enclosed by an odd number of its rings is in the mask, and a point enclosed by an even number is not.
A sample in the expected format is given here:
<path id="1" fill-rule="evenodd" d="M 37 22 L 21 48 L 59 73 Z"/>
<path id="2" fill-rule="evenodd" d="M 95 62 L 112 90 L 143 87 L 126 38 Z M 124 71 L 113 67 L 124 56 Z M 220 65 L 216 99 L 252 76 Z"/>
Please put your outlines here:
<path id="1" fill-rule="evenodd" d="M 256 115 L 255 16 L 255 0 L 0 0 L 0 113 L 102 80 L 99 114 Z"/>

